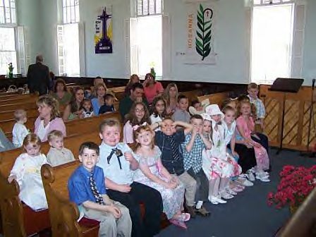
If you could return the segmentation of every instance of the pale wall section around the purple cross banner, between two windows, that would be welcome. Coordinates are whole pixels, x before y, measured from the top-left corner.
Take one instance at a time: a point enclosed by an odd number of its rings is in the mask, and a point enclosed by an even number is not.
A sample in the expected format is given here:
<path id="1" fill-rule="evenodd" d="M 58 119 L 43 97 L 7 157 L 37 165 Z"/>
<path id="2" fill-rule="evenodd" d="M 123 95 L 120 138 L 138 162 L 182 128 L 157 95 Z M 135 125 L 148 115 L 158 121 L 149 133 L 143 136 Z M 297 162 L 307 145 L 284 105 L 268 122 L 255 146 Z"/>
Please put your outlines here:
<path id="1" fill-rule="evenodd" d="M 104 6 L 112 6 L 113 54 L 95 54 L 95 20 Z M 80 21 L 85 24 L 85 64 L 89 76 L 128 78 L 125 63 L 124 20 L 130 16 L 129 0 L 80 1 Z"/>

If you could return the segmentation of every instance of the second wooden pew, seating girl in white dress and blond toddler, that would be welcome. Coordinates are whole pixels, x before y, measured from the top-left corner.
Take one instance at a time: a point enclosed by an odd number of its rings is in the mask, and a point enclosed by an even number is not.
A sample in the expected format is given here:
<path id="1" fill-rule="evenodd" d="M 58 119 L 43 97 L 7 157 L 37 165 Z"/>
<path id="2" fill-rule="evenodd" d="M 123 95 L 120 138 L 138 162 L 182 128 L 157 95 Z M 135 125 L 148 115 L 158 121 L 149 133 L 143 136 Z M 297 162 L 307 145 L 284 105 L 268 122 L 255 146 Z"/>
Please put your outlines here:
<path id="1" fill-rule="evenodd" d="M 99 144 L 99 131 L 93 133 L 75 135 L 64 139 L 64 145 L 73 155 L 78 157 L 79 145 L 85 141 Z M 47 154 L 48 142 L 43 142 L 41 152 Z M 16 181 L 8 183 L 8 175 L 13 167 L 16 157 L 22 153 L 22 149 L 0 152 L 0 208 L 4 236 L 29 236 L 50 227 L 48 210 L 34 212 L 30 207 L 23 205 L 18 198 L 19 187 Z"/>

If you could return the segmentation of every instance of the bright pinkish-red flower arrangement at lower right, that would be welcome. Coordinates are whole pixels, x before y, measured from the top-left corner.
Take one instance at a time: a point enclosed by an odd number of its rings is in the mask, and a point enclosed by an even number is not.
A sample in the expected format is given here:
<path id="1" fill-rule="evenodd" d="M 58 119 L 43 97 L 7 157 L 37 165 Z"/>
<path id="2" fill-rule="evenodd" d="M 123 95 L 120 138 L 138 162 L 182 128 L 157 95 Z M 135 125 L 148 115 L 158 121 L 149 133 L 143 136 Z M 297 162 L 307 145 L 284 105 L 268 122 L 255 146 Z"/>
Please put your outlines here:
<path id="1" fill-rule="evenodd" d="M 289 204 L 298 207 L 316 187 L 316 165 L 305 167 L 284 166 L 280 172 L 281 181 L 277 193 L 268 193 L 268 205 L 277 209 Z"/>

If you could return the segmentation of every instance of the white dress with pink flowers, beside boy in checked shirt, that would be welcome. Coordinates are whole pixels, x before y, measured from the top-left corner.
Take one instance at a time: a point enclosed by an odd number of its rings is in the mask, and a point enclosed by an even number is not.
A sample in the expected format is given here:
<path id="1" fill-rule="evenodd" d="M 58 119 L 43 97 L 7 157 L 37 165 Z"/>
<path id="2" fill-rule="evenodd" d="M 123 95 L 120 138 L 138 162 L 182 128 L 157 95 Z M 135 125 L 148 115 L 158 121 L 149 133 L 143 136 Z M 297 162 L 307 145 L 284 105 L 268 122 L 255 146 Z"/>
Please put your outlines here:
<path id="1" fill-rule="evenodd" d="M 202 169 L 207 178 L 231 178 L 241 174 L 241 166 L 235 159 L 226 152 L 226 142 L 224 139 L 224 128 L 212 121 L 212 148 L 202 152 Z"/>

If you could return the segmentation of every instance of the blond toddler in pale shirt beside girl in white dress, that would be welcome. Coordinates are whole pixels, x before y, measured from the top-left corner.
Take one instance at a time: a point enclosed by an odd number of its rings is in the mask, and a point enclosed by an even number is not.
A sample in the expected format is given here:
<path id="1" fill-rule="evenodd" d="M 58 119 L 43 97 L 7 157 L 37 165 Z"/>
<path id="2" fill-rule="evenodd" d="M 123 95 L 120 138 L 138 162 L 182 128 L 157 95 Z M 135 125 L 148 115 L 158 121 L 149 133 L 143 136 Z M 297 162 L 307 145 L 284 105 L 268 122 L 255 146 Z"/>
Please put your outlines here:
<path id="1" fill-rule="evenodd" d="M 63 133 L 61 133 L 60 130 L 52 130 L 47 135 L 47 140 L 51 146 L 47 153 L 47 162 L 51 164 L 51 166 L 59 166 L 75 160 L 73 152 L 63 147 Z"/>

